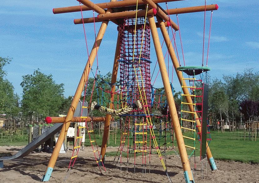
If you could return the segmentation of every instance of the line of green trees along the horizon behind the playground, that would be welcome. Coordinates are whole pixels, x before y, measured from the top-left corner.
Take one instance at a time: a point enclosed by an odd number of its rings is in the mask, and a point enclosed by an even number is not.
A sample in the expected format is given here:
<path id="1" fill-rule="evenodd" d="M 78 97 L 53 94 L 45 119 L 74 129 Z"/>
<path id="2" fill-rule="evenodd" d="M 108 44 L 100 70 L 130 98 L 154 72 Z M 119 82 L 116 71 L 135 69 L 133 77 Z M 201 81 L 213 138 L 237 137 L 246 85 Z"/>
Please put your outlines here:
<path id="1" fill-rule="evenodd" d="M 52 75 L 46 75 L 40 70 L 23 76 L 21 98 L 14 93 L 12 83 L 6 79 L 3 67 L 11 62 L 10 58 L 0 57 L 0 116 L 6 118 L 22 116 L 23 119 L 41 120 L 46 116 L 66 114 L 69 110 L 72 96 L 64 97 L 64 85 L 56 84 Z M 109 89 L 111 73 L 101 77 L 106 89 Z M 86 101 L 98 100 L 97 91 L 92 92 L 94 78 L 89 78 L 86 90 Z M 106 84 L 105 84 L 106 83 Z M 209 84 L 209 112 L 212 121 L 225 120 L 227 122 L 243 120 L 258 120 L 259 116 L 259 72 L 246 69 L 234 76 L 224 76 L 210 80 Z M 104 86 L 97 86 L 104 87 Z M 174 92 L 177 109 L 180 110 L 180 92 Z M 99 93 L 99 95 L 101 95 Z M 109 98 L 109 94 L 105 94 Z M 99 96 L 100 97 L 100 96 Z M 81 98 L 83 100 L 83 96 Z M 108 106 L 107 103 L 104 104 Z M 99 115 L 95 114 L 94 115 Z M 241 116 L 242 115 L 242 116 Z"/>

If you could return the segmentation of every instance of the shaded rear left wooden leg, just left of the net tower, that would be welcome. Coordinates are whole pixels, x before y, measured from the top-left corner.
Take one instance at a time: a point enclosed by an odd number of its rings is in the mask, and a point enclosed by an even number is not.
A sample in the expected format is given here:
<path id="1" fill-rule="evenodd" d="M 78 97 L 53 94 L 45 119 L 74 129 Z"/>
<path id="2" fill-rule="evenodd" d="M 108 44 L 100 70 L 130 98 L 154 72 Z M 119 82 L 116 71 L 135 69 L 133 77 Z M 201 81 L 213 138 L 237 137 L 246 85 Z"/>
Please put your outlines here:
<path id="1" fill-rule="evenodd" d="M 119 67 L 119 54 L 120 54 L 120 31 L 118 32 L 118 38 L 117 38 L 117 45 L 116 45 L 116 51 L 115 51 L 115 57 L 114 57 L 114 63 L 113 63 L 113 71 L 112 71 L 112 78 L 111 83 L 116 83 L 117 79 L 117 73 L 118 73 L 118 67 Z M 109 108 L 113 108 L 113 101 L 114 101 L 114 91 L 115 91 L 115 85 L 112 85 L 111 87 L 111 98 L 110 98 L 110 106 Z M 106 146 L 107 146 L 107 140 L 109 135 L 109 127 L 110 127 L 110 121 L 111 121 L 111 115 L 106 114 L 105 116 L 105 123 L 104 123 L 104 134 L 103 134 L 103 140 L 102 140 L 102 147 L 101 147 L 101 156 L 102 161 L 104 162 L 105 158 L 105 152 L 106 152 Z"/>

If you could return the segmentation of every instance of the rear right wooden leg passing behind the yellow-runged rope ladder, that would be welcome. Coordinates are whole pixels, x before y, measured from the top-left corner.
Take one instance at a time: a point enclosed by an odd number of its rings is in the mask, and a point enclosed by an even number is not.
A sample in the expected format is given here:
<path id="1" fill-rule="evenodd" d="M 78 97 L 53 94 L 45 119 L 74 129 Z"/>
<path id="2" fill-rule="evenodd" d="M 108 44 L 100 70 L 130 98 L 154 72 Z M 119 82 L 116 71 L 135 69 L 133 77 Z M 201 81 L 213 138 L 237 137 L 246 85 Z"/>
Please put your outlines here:
<path id="1" fill-rule="evenodd" d="M 185 80 L 182 80 L 182 77 L 183 77 L 182 72 L 177 71 L 177 68 L 180 67 L 180 66 L 179 66 L 179 63 L 177 61 L 174 48 L 172 47 L 172 44 L 170 42 L 170 37 L 169 37 L 169 35 L 168 35 L 167 31 L 166 31 L 165 23 L 159 17 L 157 17 L 157 20 L 158 20 L 161 32 L 163 34 L 163 37 L 164 37 L 164 40 L 165 40 L 165 44 L 167 46 L 167 49 L 168 49 L 168 52 L 170 54 L 171 60 L 173 62 L 173 65 L 174 65 L 174 68 L 175 68 L 178 80 L 179 80 L 180 84 L 182 84 L 183 86 L 187 86 Z M 189 93 L 188 89 L 187 88 L 183 88 L 183 92 L 185 94 L 185 98 L 186 98 L 187 102 L 188 103 L 192 103 L 192 99 L 190 97 L 190 93 Z M 190 111 L 195 112 L 194 109 L 193 109 L 193 106 L 191 104 L 189 105 L 189 109 L 190 109 Z M 199 118 L 197 113 L 195 113 L 195 118 Z M 200 120 L 196 120 L 196 124 L 197 124 L 197 126 L 201 126 Z M 201 132 L 201 127 L 198 127 L 198 131 Z M 212 157 L 212 154 L 211 154 L 210 147 L 208 146 L 207 142 L 206 142 L 206 147 L 207 147 L 206 155 L 207 155 L 207 159 L 209 161 L 209 164 L 211 166 L 211 170 L 216 170 L 217 167 L 216 167 L 215 161 L 214 161 L 214 159 Z"/>

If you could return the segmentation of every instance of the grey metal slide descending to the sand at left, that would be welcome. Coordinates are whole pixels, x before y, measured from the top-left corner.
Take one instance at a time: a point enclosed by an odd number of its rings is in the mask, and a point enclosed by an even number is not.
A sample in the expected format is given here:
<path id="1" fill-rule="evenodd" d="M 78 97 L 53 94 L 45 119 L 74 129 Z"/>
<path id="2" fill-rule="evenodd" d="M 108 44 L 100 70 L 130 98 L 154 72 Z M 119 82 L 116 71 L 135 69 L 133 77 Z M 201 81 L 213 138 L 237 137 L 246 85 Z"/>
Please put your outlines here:
<path id="1" fill-rule="evenodd" d="M 56 123 L 48 131 L 46 131 L 42 135 L 38 136 L 31 143 L 29 143 L 23 149 L 18 151 L 15 155 L 0 158 L 0 168 L 3 168 L 4 160 L 13 160 L 18 157 L 27 156 L 30 152 L 34 151 L 38 146 L 40 146 L 45 141 L 47 141 L 51 136 L 54 136 L 56 133 L 58 133 L 61 130 L 62 125 L 63 125 L 63 123 Z"/>

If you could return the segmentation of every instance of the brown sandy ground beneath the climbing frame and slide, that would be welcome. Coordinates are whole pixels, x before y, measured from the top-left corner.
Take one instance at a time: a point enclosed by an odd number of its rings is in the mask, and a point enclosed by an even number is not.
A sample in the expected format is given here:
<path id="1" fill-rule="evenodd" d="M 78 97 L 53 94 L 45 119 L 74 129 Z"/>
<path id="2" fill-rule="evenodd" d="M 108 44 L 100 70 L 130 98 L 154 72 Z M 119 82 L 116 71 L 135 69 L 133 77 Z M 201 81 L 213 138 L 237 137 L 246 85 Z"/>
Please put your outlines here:
<path id="1" fill-rule="evenodd" d="M 13 155 L 21 148 L 22 146 L 0 146 L 0 156 Z M 108 147 L 107 151 L 117 151 L 117 148 Z M 79 158 L 65 181 L 71 153 L 72 151 L 70 150 L 66 154 L 59 155 L 49 182 L 169 182 L 157 155 L 152 155 L 152 162 L 150 168 L 149 165 L 147 165 L 146 174 L 142 173 L 142 156 L 137 157 L 139 165 L 136 166 L 135 173 L 133 165 L 129 166 L 128 171 L 126 171 L 125 167 L 122 167 L 122 170 L 120 170 L 120 164 L 116 166 L 115 163 L 113 163 L 114 157 L 106 157 L 106 172 L 103 171 L 103 174 L 101 174 L 94 161 L 91 147 L 86 147 L 84 151 L 79 152 Z M 0 182 L 39 182 L 44 174 L 50 156 L 51 154 L 44 152 L 30 153 L 23 158 L 13 161 L 4 161 L 4 168 L 0 169 Z M 126 158 L 123 160 L 125 162 Z M 133 158 L 130 161 L 133 161 Z M 218 160 L 215 162 L 218 170 L 211 171 L 206 161 L 201 163 L 198 160 L 197 170 L 193 171 L 196 183 L 259 183 L 259 164 L 252 165 Z M 185 182 L 181 161 L 178 156 L 167 156 L 166 164 L 172 182 Z M 192 164 L 193 163 L 191 163 L 191 166 Z M 201 171 L 201 166 L 203 166 L 204 171 Z M 150 173 L 148 173 L 149 170 Z"/>

